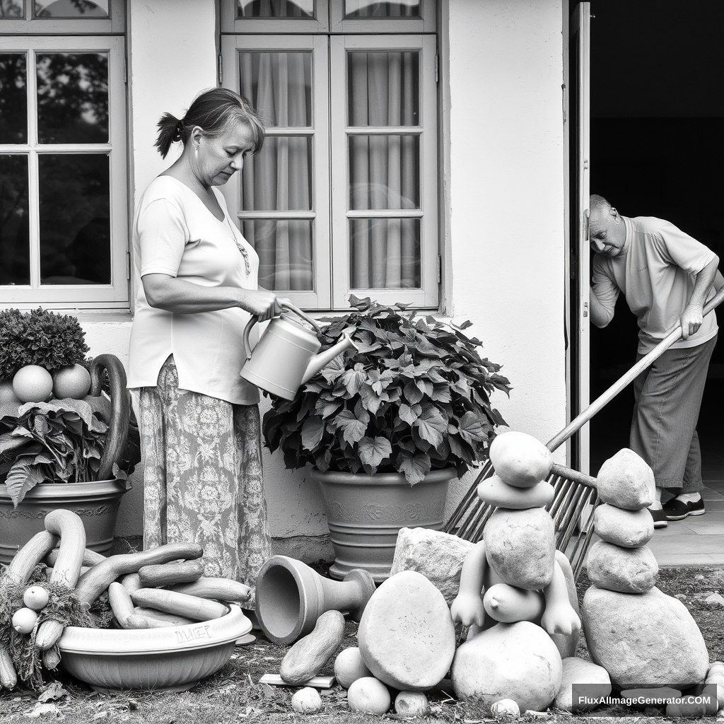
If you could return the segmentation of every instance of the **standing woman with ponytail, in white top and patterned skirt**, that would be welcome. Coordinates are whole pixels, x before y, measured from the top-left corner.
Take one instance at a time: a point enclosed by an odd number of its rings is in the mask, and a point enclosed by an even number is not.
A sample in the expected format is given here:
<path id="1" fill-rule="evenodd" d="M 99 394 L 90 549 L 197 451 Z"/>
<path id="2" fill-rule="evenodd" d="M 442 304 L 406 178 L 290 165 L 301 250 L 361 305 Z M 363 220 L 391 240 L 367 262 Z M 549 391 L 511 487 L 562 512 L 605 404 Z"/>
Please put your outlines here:
<path id="1" fill-rule="evenodd" d="M 137 295 L 128 387 L 138 388 L 143 545 L 195 541 L 206 576 L 253 584 L 271 555 L 258 390 L 239 376 L 243 331 L 280 301 L 258 289 L 258 257 L 216 186 L 258 153 L 264 126 L 232 90 L 201 93 L 156 140 L 182 153 L 143 193 L 133 221 Z M 256 328 L 255 328 L 256 329 Z"/>

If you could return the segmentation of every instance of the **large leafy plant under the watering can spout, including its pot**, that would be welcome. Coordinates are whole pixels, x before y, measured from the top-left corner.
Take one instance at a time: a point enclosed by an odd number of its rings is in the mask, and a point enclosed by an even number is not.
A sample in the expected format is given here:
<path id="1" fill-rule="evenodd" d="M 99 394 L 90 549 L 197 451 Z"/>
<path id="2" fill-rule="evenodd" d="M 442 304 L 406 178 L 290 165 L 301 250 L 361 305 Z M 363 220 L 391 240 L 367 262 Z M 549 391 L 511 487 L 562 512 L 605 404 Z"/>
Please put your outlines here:
<path id="1" fill-rule="evenodd" d="M 356 353 L 335 358 L 294 400 L 273 398 L 264 441 L 287 468 L 313 466 L 335 552 L 330 573 L 366 568 L 376 581 L 392 565 L 403 526 L 440 529 L 447 484 L 486 456 L 510 392 L 481 342 L 433 316 L 350 295 L 355 308 L 322 319 L 322 350 L 352 337 Z"/>

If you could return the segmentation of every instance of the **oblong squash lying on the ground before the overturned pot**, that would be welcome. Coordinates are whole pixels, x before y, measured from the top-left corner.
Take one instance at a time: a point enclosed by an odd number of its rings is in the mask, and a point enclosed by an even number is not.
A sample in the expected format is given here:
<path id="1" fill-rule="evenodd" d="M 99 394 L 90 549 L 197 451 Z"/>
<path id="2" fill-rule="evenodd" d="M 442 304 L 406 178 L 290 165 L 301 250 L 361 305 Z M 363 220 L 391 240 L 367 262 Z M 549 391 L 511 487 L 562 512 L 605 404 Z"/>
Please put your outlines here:
<path id="1" fill-rule="evenodd" d="M 344 638 L 345 617 L 339 611 L 325 611 L 316 620 L 313 631 L 287 651 L 279 675 L 292 685 L 307 681 L 327 663 Z"/>

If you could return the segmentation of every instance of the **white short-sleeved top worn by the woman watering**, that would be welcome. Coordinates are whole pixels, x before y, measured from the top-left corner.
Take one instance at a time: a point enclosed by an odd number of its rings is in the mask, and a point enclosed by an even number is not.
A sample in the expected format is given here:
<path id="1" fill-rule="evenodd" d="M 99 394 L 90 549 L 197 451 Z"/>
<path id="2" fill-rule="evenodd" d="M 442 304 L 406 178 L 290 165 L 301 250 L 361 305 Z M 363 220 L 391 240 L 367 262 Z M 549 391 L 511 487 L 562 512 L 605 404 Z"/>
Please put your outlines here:
<path id="1" fill-rule="evenodd" d="M 224 211 L 222 222 L 172 176 L 156 177 L 140 198 L 133 219 L 137 293 L 128 387 L 156 387 L 161 366 L 173 354 L 183 390 L 253 405 L 258 390 L 239 376 L 248 312 L 237 307 L 193 314 L 156 309 L 148 304 L 141 282 L 145 274 L 169 274 L 202 287 L 257 288 L 258 256 L 230 223 L 222 194 L 216 188 L 214 194 Z M 248 274 L 232 234 L 248 253 Z M 253 345 L 256 325 L 252 332 Z"/>

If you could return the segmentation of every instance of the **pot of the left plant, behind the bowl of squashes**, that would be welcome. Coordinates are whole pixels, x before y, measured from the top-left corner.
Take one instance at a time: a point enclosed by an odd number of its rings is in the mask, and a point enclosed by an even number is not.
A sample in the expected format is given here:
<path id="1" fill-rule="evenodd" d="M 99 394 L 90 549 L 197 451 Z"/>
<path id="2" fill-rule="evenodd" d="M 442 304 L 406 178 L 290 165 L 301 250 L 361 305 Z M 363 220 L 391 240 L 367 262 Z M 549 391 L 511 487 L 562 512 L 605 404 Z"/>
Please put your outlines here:
<path id="1" fill-rule="evenodd" d="M 7 485 L 0 485 L 0 563 L 10 563 L 15 553 L 44 529 L 46 515 L 56 508 L 80 515 L 85 547 L 106 555 L 113 545 L 121 496 L 127 490 L 130 483 L 125 480 L 41 483 L 13 508 Z"/>

